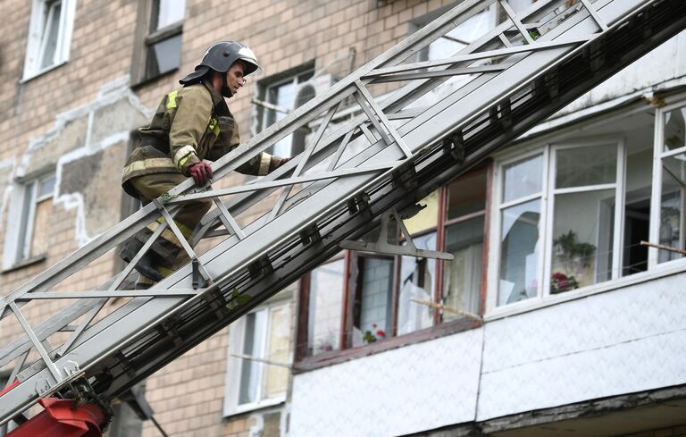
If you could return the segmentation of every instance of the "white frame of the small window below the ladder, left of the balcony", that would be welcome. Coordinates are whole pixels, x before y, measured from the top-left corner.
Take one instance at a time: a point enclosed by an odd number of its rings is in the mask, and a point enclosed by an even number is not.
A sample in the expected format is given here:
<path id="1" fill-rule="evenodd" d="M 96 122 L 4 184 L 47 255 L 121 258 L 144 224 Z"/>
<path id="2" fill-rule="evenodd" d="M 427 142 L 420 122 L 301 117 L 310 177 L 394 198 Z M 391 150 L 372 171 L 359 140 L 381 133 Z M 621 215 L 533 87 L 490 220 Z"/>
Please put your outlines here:
<path id="1" fill-rule="evenodd" d="M 268 338 L 267 338 L 267 333 L 270 332 L 270 326 L 269 326 L 269 321 L 270 317 L 268 316 L 269 312 L 272 312 L 277 309 L 282 309 L 282 308 L 287 308 L 289 310 L 288 315 L 288 323 L 289 323 L 289 332 L 292 332 L 292 306 L 291 306 L 291 300 L 292 300 L 293 293 L 292 291 L 281 291 L 280 294 L 272 298 L 271 301 L 269 301 L 267 304 L 265 304 L 262 307 L 255 308 L 255 310 L 251 311 L 249 314 L 255 314 L 256 317 L 260 317 L 264 320 L 264 327 L 262 328 L 262 331 L 264 333 L 264 336 L 262 339 L 260 339 L 260 346 L 261 346 L 261 352 L 260 352 L 260 357 L 264 357 L 264 353 L 266 350 L 268 350 Z M 241 357 L 235 357 L 234 355 L 242 355 L 243 353 L 243 345 L 245 342 L 245 333 L 246 333 L 246 317 L 243 316 L 235 324 L 232 324 L 230 327 L 230 332 L 229 332 L 229 348 L 228 348 L 228 356 L 227 356 L 227 372 L 226 372 L 226 384 L 224 387 L 224 408 L 223 408 L 223 416 L 233 416 L 233 415 L 238 415 L 241 413 L 245 413 L 247 411 L 252 411 L 255 409 L 259 408 L 267 408 L 267 407 L 273 407 L 280 405 L 286 401 L 286 394 L 288 392 L 288 387 L 286 390 L 280 395 L 280 396 L 275 396 L 273 398 L 260 398 L 256 402 L 252 402 L 249 404 L 243 404 L 239 405 L 238 404 L 238 396 L 239 396 L 239 391 L 240 391 L 240 376 L 243 372 L 243 365 L 246 362 L 249 362 L 245 358 Z M 289 341 L 292 343 L 291 341 Z M 283 363 L 285 365 L 292 365 L 292 344 L 289 344 L 289 362 L 288 363 Z M 271 366 L 263 362 L 255 361 L 258 372 L 257 372 L 257 387 L 258 387 L 258 393 L 259 396 L 262 396 L 262 391 L 263 391 L 263 375 L 264 375 L 264 366 Z"/>

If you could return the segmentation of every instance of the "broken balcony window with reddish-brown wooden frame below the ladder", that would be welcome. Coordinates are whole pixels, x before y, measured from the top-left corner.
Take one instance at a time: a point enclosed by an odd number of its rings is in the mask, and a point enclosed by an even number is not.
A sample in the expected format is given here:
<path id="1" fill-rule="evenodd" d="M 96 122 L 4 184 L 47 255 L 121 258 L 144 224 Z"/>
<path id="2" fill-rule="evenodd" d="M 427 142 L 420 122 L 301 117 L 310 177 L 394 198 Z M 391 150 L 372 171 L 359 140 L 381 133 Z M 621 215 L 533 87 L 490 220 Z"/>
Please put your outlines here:
<path id="1" fill-rule="evenodd" d="M 306 332 L 298 358 L 329 353 L 327 359 L 340 349 L 481 314 L 487 179 L 484 168 L 469 172 L 423 198 L 425 207 L 403 221 L 417 248 L 447 251 L 454 260 L 349 251 L 315 268 L 301 293 Z M 395 235 L 393 220 L 389 227 Z"/>

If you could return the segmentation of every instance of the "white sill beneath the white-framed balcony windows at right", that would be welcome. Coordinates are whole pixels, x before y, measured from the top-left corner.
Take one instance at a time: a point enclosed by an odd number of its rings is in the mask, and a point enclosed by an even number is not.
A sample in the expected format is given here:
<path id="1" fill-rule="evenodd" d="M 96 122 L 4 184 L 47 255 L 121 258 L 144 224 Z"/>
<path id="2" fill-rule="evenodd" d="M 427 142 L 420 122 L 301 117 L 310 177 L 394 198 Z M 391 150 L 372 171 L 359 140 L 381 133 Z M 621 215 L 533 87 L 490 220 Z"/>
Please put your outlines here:
<path id="1" fill-rule="evenodd" d="M 571 300 L 587 298 L 596 294 L 620 290 L 633 285 L 638 285 L 643 282 L 655 281 L 667 276 L 673 276 L 674 274 L 684 273 L 685 269 L 686 258 L 674 260 L 662 265 L 657 265 L 657 267 L 655 267 L 653 270 L 649 270 L 647 272 L 632 274 L 631 276 L 625 276 L 613 281 L 601 282 L 579 290 L 573 290 L 572 292 L 548 295 L 542 298 L 531 298 L 520 302 L 515 302 L 506 307 L 496 307 L 484 315 L 483 320 L 484 322 L 490 322 L 509 317 L 511 315 L 520 315 L 530 311 L 536 311 L 541 308 L 553 307 Z"/>

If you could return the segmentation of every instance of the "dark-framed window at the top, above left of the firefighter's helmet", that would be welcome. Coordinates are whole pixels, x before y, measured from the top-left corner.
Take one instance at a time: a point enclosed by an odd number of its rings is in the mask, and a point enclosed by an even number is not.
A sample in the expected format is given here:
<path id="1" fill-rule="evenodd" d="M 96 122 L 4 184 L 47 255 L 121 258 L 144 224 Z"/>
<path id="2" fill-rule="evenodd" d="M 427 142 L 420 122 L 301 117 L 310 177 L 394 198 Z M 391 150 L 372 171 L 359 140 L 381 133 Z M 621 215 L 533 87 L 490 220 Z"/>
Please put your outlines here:
<path id="1" fill-rule="evenodd" d="M 132 63 L 134 84 L 177 70 L 185 0 L 147 0 L 138 10 L 138 33 Z"/>

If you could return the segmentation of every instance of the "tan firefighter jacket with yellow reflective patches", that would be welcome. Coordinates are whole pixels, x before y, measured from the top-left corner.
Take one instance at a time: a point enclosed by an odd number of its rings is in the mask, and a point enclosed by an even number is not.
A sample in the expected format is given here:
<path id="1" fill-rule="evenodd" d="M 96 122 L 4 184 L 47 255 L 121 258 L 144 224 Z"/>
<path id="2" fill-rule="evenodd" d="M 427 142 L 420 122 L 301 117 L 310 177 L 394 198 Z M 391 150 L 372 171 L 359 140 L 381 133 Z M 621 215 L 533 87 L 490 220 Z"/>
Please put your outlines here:
<path id="1" fill-rule="evenodd" d="M 163 97 L 150 125 L 138 130 L 137 147 L 129 155 L 121 178 L 122 188 L 140 197 L 132 178 L 151 173 L 180 172 L 204 159 L 216 161 L 238 147 L 238 124 L 219 93 L 206 82 L 179 88 Z M 281 158 L 256 155 L 238 172 L 263 176 L 272 172 Z"/>

